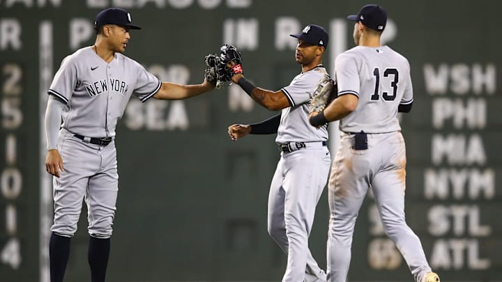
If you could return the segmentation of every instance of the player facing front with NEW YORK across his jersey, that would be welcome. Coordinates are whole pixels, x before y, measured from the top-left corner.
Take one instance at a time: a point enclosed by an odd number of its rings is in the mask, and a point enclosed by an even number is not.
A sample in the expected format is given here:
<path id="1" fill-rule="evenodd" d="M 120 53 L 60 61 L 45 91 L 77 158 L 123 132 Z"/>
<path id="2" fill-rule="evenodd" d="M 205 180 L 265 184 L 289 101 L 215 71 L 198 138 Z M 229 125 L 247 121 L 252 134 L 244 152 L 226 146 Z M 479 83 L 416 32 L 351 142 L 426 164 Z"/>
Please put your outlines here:
<path id="1" fill-rule="evenodd" d="M 124 56 L 130 29 L 140 29 L 126 10 L 102 10 L 94 24 L 96 43 L 64 58 L 48 91 L 45 167 L 54 175 L 52 282 L 63 281 L 83 199 L 88 210 L 91 278 L 105 281 L 119 191 L 115 127 L 131 95 L 142 102 L 151 97 L 179 100 L 214 87 L 206 79 L 189 86 L 160 82 Z"/>

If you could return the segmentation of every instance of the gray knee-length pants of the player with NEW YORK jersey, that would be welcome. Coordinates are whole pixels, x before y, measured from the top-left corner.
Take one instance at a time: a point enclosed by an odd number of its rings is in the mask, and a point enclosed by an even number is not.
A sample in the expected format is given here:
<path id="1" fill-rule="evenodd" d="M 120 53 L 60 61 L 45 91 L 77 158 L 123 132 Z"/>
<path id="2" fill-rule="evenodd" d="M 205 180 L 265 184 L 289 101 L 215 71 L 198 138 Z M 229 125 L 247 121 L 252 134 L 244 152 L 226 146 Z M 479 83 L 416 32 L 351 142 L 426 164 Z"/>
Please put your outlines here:
<path id="1" fill-rule="evenodd" d="M 63 129 L 58 144 L 65 171 L 61 171 L 61 178 L 54 177 L 53 180 L 54 224 L 51 231 L 72 237 L 77 231 L 85 199 L 89 235 L 109 238 L 119 191 L 114 141 L 107 146 L 98 146 L 77 139 Z"/>

